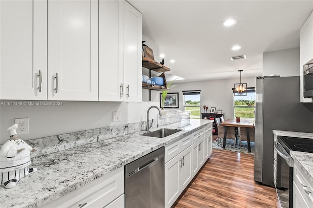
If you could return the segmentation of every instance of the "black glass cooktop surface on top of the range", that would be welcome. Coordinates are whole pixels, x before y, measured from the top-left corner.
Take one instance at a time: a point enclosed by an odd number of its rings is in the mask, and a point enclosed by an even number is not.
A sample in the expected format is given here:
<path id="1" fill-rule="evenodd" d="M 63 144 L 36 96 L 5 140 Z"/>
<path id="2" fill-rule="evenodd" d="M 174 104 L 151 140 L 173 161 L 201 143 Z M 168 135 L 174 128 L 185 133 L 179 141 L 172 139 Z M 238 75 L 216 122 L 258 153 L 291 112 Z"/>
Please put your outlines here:
<path id="1" fill-rule="evenodd" d="M 277 136 L 279 143 L 290 154 L 290 150 L 313 153 L 313 139 Z"/>

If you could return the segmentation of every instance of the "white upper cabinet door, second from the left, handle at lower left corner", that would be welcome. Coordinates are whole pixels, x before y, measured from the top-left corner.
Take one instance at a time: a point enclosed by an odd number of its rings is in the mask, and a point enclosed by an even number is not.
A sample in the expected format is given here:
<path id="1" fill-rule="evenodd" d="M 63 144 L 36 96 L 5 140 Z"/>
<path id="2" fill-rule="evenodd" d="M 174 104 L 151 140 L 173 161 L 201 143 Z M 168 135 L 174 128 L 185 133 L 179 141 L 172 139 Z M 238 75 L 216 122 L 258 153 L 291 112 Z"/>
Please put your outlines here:
<path id="1" fill-rule="evenodd" d="M 48 0 L 48 100 L 98 101 L 98 0 Z"/>

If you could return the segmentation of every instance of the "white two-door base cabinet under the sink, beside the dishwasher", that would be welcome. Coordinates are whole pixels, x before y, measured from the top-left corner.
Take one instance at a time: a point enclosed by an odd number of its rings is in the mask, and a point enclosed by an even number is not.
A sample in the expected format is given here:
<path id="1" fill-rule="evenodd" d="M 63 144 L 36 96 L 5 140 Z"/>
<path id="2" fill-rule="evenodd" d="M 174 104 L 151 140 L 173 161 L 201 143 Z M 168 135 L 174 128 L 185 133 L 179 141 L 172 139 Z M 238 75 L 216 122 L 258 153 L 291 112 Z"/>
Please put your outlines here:
<path id="1" fill-rule="evenodd" d="M 191 146 L 165 164 L 165 207 L 173 205 L 192 180 Z"/>

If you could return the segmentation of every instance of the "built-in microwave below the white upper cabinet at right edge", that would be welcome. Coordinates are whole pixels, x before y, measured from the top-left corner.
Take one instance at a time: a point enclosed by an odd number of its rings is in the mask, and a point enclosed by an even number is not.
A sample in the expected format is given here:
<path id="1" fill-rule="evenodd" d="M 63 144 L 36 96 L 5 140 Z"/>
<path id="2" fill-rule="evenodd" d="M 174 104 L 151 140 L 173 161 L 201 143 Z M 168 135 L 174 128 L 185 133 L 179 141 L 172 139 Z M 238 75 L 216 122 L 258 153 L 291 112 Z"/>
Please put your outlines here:
<path id="1" fill-rule="evenodd" d="M 303 97 L 313 98 L 313 59 L 303 65 Z"/>

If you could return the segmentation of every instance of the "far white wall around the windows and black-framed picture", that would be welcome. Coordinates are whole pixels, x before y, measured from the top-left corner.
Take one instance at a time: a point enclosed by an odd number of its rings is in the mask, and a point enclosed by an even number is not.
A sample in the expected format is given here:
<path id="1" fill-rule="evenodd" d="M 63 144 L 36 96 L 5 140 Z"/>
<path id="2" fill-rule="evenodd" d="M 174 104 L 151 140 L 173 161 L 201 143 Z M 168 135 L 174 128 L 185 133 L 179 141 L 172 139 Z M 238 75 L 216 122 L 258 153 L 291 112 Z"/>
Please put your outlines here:
<path id="1" fill-rule="evenodd" d="M 255 87 L 255 77 L 241 78 L 242 83 L 247 83 L 247 87 Z M 233 93 L 234 83 L 238 83 L 238 79 L 224 79 L 224 80 L 209 80 L 202 82 L 185 82 L 176 83 L 177 86 L 173 87 L 172 92 L 179 93 L 179 109 L 166 108 L 167 110 L 182 110 L 182 91 L 184 90 L 201 90 L 201 113 L 203 113 L 203 105 L 209 107 L 216 107 L 216 111 L 220 108 L 224 111 L 224 118 L 232 118 L 233 116 Z"/>

